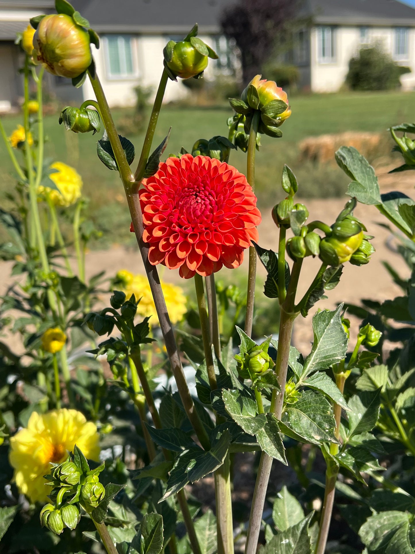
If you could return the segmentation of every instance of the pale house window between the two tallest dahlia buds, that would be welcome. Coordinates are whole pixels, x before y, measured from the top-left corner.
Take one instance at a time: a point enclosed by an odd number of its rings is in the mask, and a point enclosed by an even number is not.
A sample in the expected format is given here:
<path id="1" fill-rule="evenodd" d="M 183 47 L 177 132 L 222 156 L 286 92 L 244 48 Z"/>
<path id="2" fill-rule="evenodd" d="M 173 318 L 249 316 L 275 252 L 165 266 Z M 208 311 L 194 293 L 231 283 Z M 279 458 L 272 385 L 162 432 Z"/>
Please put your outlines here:
<path id="1" fill-rule="evenodd" d="M 107 35 L 105 44 L 108 77 L 128 79 L 137 76 L 133 38 L 128 35 Z"/>

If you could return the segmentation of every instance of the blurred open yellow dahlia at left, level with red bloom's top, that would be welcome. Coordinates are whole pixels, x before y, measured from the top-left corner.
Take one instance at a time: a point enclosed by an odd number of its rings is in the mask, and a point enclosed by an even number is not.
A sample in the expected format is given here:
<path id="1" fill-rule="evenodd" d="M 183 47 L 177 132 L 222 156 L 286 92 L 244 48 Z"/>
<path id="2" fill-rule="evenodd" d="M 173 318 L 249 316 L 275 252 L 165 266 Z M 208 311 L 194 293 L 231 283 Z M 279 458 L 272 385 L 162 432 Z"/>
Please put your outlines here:
<path id="1" fill-rule="evenodd" d="M 82 177 L 73 167 L 66 165 L 63 162 L 55 162 L 50 166 L 51 169 L 57 170 L 49 174 L 49 178 L 58 187 L 58 191 L 49 187 L 40 186 L 38 194 L 43 196 L 46 192 L 49 194 L 51 201 L 55 206 L 68 207 L 75 204 L 77 199 L 81 197 Z"/>

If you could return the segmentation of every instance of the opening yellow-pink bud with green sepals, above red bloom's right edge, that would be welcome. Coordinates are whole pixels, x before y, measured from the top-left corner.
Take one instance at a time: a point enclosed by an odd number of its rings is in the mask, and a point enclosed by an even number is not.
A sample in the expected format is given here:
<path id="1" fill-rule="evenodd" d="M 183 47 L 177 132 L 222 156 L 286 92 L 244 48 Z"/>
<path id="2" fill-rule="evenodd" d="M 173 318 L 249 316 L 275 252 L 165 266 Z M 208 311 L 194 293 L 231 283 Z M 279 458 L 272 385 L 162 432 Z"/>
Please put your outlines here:
<path id="1" fill-rule="evenodd" d="M 278 129 L 291 115 L 285 93 L 274 81 L 261 80 L 256 75 L 242 91 L 241 98 L 230 98 L 229 102 L 237 114 L 245 116 L 244 129 L 248 135 L 251 130 L 253 116 L 260 114 L 258 132 L 270 137 L 282 137 Z"/>

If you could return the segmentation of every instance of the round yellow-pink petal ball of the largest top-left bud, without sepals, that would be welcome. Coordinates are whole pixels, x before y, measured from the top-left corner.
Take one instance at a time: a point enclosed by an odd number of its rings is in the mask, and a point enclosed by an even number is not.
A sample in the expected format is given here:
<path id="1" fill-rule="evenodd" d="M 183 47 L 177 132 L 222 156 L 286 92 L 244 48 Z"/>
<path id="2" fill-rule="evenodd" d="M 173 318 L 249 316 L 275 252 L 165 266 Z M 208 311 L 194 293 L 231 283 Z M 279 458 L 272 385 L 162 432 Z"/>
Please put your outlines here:
<path id="1" fill-rule="evenodd" d="M 33 57 L 53 75 L 74 79 L 91 65 L 89 33 L 64 13 L 40 21 L 33 47 Z"/>

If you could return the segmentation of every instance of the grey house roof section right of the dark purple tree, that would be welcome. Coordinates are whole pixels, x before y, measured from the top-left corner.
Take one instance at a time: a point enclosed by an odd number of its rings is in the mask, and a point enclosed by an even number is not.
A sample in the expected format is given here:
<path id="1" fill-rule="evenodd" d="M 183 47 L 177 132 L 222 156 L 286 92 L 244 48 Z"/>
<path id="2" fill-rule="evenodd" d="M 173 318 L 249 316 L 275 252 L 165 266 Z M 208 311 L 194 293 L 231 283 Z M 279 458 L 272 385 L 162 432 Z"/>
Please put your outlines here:
<path id="1" fill-rule="evenodd" d="M 415 25 L 415 9 L 398 0 L 308 0 L 319 24 Z"/>

